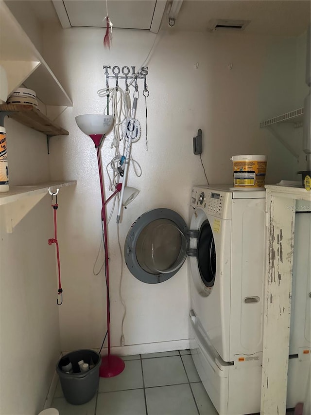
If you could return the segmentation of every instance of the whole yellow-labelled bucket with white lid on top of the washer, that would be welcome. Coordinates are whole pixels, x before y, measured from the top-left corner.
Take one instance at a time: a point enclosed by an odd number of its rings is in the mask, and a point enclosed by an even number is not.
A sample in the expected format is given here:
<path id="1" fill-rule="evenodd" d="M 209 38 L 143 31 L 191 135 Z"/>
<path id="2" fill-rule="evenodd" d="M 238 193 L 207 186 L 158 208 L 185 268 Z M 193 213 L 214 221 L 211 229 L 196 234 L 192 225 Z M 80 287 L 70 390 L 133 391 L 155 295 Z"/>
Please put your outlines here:
<path id="1" fill-rule="evenodd" d="M 259 189 L 264 187 L 267 156 L 246 154 L 232 156 L 234 187 L 237 189 Z"/>

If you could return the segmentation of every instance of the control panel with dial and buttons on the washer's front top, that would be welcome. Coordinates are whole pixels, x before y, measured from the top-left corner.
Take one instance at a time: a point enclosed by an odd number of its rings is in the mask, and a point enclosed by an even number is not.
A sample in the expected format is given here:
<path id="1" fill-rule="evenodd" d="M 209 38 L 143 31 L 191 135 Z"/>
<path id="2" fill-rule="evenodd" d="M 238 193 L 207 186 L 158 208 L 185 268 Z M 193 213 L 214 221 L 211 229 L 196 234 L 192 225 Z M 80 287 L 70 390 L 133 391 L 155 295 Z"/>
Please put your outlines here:
<path id="1" fill-rule="evenodd" d="M 202 207 L 206 213 L 222 218 L 230 218 L 229 207 L 231 206 L 232 192 L 194 187 L 191 192 L 191 206 Z"/>

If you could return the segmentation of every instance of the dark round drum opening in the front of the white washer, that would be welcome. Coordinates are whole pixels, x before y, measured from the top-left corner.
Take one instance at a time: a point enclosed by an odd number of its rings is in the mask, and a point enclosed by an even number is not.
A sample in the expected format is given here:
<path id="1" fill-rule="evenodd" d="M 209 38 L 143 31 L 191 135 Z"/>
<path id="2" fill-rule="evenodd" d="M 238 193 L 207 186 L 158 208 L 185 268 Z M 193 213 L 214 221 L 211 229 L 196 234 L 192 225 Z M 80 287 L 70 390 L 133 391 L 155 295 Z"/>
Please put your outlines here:
<path id="1" fill-rule="evenodd" d="M 212 229 L 205 220 L 198 236 L 198 266 L 201 279 L 206 287 L 213 287 L 216 274 L 216 250 Z"/>

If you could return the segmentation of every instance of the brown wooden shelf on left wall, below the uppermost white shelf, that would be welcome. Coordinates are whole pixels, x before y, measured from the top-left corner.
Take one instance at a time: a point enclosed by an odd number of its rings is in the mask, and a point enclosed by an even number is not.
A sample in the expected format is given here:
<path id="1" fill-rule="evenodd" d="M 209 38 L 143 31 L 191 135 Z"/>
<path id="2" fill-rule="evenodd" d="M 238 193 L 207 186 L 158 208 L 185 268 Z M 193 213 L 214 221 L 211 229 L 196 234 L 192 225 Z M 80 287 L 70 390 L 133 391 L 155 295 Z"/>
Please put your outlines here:
<path id="1" fill-rule="evenodd" d="M 0 111 L 10 112 L 8 115 L 14 120 L 49 136 L 69 134 L 32 105 L 3 104 L 0 105 Z"/>

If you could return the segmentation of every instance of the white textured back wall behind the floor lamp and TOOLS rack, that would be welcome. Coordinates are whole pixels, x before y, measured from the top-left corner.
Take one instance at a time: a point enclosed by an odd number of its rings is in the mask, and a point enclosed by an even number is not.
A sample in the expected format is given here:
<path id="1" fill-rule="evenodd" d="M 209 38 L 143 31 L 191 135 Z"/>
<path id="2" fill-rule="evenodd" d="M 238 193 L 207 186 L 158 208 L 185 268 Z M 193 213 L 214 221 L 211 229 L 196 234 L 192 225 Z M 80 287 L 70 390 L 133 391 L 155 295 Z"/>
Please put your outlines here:
<path id="1" fill-rule="evenodd" d="M 74 107 L 58 119 L 69 130 L 69 136 L 54 139 L 50 156 L 54 179 L 78 180 L 76 191 L 70 189 L 62 195 L 66 212 L 60 215 L 66 293 L 60 309 L 62 350 L 99 347 L 106 328 L 104 277 L 92 274 L 101 239 L 96 151 L 76 126 L 74 117 L 103 111 L 105 101 L 97 96 L 97 90 L 105 87 L 103 65 L 138 67 L 155 39 L 155 35 L 142 31 L 114 30 L 112 47 L 107 51 L 103 48 L 103 35 L 100 29 L 75 28 L 62 32 L 46 29 L 44 36 L 45 57 L 74 102 Z M 198 128 L 203 131 L 202 159 L 210 183 L 232 182 L 230 157 L 236 154 L 268 154 L 268 182 L 284 176 L 292 178 L 292 156 L 283 149 L 278 151 L 278 144 L 270 146 L 269 133 L 259 129 L 262 106 L 268 105 L 270 99 L 269 89 L 266 102 L 261 91 L 267 79 L 273 84 L 278 76 L 276 71 L 274 79 L 270 79 L 264 72 L 274 42 L 271 37 L 245 34 L 167 33 L 161 38 L 148 65 L 148 152 L 139 84 L 137 118 L 142 125 L 142 138 L 133 145 L 133 156 L 141 164 L 143 175 L 136 178 L 131 168 L 128 183 L 140 193 L 123 212 L 122 250 L 129 227 L 145 211 L 166 207 L 188 219 L 191 186 L 206 183 L 200 159 L 192 154 L 192 137 Z M 294 48 L 290 49 L 292 53 Z M 280 53 L 280 67 L 284 54 L 288 54 L 286 48 Z M 232 70 L 228 68 L 230 64 Z M 291 70 L 284 72 L 283 82 L 278 82 L 278 90 L 294 82 Z M 290 88 L 292 93 L 292 85 Z M 284 96 L 291 101 L 289 94 Z M 283 99 L 280 97 L 278 102 Z M 110 142 L 111 137 L 102 147 L 104 164 L 113 157 Z M 109 267 L 112 345 L 118 346 L 121 256 L 115 216 L 116 213 L 109 224 Z M 160 348 L 156 342 L 188 339 L 186 266 L 159 285 L 141 283 L 123 267 L 123 295 L 127 306 L 126 344 L 155 343 L 152 347 L 156 351 Z"/>

